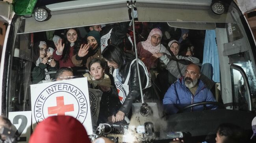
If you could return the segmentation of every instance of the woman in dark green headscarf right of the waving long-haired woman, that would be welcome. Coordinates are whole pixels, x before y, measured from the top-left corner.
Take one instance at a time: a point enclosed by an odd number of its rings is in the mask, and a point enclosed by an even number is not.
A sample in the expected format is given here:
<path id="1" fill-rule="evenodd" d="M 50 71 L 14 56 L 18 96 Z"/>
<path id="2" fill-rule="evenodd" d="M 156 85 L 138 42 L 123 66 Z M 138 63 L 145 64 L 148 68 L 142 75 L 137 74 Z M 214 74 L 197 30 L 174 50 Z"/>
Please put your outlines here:
<path id="1" fill-rule="evenodd" d="M 83 66 L 83 60 L 87 60 L 85 64 L 87 68 L 89 66 L 89 62 L 94 58 L 98 58 L 102 60 L 102 62 L 104 61 L 100 51 L 100 33 L 98 31 L 90 31 L 87 34 L 86 39 L 89 45 L 88 54 L 82 57 L 76 54 L 72 57 L 72 62 L 78 67 Z"/>

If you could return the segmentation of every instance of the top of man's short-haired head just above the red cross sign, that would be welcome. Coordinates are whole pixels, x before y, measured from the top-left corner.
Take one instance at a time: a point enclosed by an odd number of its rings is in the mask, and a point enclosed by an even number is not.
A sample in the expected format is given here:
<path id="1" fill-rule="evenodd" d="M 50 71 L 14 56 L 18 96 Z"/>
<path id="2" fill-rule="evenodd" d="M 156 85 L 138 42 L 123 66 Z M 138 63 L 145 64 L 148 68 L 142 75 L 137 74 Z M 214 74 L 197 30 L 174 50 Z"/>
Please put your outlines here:
<path id="1" fill-rule="evenodd" d="M 56 72 L 56 80 L 69 80 L 73 78 L 73 71 L 68 67 L 61 67 Z"/>

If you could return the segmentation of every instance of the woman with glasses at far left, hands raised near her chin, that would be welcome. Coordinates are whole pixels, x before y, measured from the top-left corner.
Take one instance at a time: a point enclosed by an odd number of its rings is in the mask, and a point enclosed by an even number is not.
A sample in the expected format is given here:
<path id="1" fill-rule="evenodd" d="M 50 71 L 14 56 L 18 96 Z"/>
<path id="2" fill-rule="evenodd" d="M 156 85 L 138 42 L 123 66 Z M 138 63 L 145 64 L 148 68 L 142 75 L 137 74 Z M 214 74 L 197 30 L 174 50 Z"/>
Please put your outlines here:
<path id="1" fill-rule="evenodd" d="M 44 41 L 35 43 L 33 47 L 33 83 L 38 83 L 42 80 L 50 80 L 51 76 L 48 74 L 45 75 L 45 72 L 56 71 L 56 62 L 54 59 L 48 61 L 48 58 L 46 58 L 47 51 L 47 44 Z"/>

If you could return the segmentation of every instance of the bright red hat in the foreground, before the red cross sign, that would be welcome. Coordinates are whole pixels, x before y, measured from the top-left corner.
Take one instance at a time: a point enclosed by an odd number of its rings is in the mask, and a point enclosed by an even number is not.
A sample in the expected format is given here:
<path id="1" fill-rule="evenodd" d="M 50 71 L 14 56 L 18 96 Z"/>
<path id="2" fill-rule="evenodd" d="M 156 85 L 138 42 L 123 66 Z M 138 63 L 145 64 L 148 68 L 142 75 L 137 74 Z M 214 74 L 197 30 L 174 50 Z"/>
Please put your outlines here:
<path id="1" fill-rule="evenodd" d="M 91 143 L 82 123 L 72 116 L 50 116 L 35 128 L 29 143 Z"/>

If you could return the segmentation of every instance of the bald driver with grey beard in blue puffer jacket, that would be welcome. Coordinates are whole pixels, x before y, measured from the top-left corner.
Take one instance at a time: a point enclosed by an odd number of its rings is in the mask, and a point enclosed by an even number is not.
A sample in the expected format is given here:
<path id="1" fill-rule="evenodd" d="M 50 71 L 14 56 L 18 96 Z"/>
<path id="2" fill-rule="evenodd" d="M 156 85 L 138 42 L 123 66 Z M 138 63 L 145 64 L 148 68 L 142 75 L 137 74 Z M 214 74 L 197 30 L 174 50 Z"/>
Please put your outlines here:
<path id="1" fill-rule="evenodd" d="M 200 68 L 198 65 L 187 66 L 185 76 L 179 78 L 169 87 L 163 98 L 163 107 L 167 114 L 175 114 L 179 109 L 197 102 L 216 102 L 211 91 L 199 79 Z M 214 105 L 206 105 L 208 109 L 216 109 Z M 187 112 L 203 110 L 203 105 L 187 109 Z"/>

